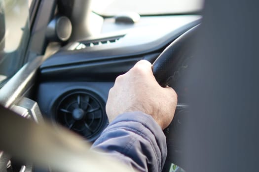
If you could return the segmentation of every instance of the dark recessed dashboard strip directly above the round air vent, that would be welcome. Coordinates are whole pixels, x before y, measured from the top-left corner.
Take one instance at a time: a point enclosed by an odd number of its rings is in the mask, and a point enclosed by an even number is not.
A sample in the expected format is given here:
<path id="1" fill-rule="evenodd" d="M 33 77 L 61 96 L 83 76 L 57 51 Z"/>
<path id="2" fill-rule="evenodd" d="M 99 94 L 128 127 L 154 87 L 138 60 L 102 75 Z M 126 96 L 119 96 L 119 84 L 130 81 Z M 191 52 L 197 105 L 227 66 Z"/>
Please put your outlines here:
<path id="1" fill-rule="evenodd" d="M 146 56 L 125 57 L 109 60 L 93 60 L 84 63 L 61 65 L 41 70 L 41 81 L 114 81 L 118 75 L 127 72 L 134 64 L 147 59 L 154 61 L 159 53 Z M 65 74 L 65 75 L 64 75 Z"/>

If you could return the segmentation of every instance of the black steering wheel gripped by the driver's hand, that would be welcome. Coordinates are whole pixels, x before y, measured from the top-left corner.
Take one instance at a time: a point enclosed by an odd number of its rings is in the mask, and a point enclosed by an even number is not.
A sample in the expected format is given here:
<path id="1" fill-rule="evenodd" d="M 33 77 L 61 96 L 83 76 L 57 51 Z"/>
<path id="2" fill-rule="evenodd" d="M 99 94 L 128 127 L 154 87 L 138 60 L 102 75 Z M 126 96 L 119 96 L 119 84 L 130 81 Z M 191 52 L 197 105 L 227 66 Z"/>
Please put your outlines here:
<path id="1" fill-rule="evenodd" d="M 187 61 L 193 56 L 190 47 L 198 28 L 199 26 L 195 26 L 178 37 L 153 62 L 153 75 L 160 86 L 171 86 L 175 88 L 177 85 L 180 85 L 181 87 L 180 82 L 182 82 L 183 79 L 183 70 L 187 68 Z M 168 149 L 167 164 L 164 166 L 164 171 L 166 172 L 169 171 L 167 168 L 170 167 L 171 163 L 177 164 L 185 169 L 186 162 L 182 160 L 184 148 L 182 147 L 181 136 L 187 116 L 188 105 L 178 104 L 173 121 L 169 127 L 164 130 Z"/>

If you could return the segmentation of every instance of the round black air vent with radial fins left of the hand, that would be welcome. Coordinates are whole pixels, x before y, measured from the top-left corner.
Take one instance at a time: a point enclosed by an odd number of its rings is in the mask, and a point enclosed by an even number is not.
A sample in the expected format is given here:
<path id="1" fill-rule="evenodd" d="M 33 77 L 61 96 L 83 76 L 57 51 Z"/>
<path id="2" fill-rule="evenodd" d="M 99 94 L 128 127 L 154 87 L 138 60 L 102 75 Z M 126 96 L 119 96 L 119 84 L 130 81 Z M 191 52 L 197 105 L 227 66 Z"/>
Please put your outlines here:
<path id="1" fill-rule="evenodd" d="M 61 97 L 55 121 L 94 141 L 108 124 L 104 101 L 96 94 L 75 90 Z"/>

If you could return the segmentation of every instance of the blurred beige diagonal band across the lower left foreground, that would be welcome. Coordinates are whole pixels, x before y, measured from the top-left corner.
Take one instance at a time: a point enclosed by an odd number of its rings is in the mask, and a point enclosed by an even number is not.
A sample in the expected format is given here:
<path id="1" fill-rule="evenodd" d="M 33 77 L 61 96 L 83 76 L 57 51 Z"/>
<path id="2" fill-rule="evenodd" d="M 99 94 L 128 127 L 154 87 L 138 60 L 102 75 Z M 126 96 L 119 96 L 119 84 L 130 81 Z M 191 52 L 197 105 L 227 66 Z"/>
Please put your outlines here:
<path id="1" fill-rule="evenodd" d="M 129 172 L 121 163 L 89 150 L 89 144 L 68 130 L 47 122 L 38 125 L 2 106 L 0 140 L 1 150 L 40 167 L 63 172 Z"/>

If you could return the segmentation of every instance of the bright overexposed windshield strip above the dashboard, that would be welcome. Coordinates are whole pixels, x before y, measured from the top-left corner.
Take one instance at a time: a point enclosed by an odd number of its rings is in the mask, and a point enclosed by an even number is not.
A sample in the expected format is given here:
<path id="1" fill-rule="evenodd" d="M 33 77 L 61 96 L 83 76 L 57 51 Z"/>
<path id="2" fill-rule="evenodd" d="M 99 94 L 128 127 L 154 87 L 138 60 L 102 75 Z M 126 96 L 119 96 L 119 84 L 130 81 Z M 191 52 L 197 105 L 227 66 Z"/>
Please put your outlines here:
<path id="1" fill-rule="evenodd" d="M 140 15 L 185 14 L 198 12 L 203 0 L 92 0 L 94 12 L 104 16 L 114 16 L 123 12 Z"/>

